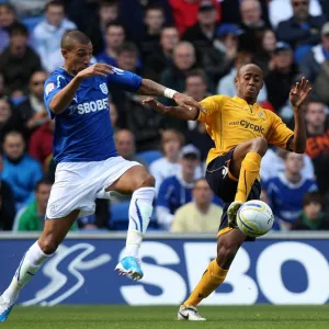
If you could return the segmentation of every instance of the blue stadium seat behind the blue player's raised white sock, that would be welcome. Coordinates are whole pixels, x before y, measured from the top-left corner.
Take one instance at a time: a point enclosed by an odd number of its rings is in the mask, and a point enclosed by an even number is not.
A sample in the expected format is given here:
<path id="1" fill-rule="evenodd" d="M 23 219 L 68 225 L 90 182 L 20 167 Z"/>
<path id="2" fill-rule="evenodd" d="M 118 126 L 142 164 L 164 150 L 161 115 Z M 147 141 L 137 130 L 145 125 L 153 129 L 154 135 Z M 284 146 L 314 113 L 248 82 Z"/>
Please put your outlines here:
<path id="1" fill-rule="evenodd" d="M 128 213 L 131 202 L 121 202 L 110 205 L 110 229 L 112 230 L 127 230 L 128 229 Z M 156 212 L 154 211 L 149 223 L 149 229 L 158 229 L 158 222 Z"/>

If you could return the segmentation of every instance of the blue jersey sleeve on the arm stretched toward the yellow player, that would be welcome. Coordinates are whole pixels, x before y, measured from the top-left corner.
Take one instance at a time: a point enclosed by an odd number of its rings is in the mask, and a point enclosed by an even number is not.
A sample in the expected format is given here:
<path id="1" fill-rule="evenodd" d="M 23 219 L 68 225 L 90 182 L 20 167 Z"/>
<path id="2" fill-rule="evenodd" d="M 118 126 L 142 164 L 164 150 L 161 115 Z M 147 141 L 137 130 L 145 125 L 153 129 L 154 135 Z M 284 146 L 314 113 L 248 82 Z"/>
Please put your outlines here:
<path id="1" fill-rule="evenodd" d="M 118 68 L 112 68 L 113 75 L 107 76 L 107 83 L 127 91 L 137 91 L 141 86 L 143 78 Z"/>

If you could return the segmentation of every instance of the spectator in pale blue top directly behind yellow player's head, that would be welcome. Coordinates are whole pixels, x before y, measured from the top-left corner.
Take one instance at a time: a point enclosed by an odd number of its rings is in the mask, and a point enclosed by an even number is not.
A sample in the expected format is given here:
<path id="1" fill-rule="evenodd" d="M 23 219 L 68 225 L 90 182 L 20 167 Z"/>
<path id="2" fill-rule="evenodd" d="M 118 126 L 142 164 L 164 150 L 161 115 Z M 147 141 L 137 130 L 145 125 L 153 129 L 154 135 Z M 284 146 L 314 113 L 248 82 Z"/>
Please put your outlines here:
<path id="1" fill-rule="evenodd" d="M 246 64 L 250 64 L 252 60 L 252 55 L 250 53 L 238 53 L 235 59 L 235 66 L 231 68 L 230 72 L 223 77 L 217 86 L 217 93 L 225 94 L 234 98 L 237 94 L 237 87 L 235 83 L 235 78 L 239 68 Z M 266 86 L 262 88 L 258 95 L 258 102 L 264 102 L 268 100 Z"/>

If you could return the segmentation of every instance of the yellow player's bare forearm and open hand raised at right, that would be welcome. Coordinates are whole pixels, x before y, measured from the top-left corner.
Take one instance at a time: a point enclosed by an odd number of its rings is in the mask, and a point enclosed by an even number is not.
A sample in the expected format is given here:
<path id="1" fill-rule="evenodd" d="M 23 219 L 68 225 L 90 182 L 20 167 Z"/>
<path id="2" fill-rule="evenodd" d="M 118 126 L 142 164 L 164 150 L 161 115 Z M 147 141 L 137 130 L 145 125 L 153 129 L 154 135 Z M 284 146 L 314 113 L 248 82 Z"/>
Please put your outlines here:
<path id="1" fill-rule="evenodd" d="M 309 87 L 309 82 L 303 77 L 300 82 L 297 82 L 290 93 L 290 101 L 294 110 L 295 118 L 294 139 L 290 148 L 296 154 L 304 154 L 306 148 L 306 128 L 303 110 L 300 107 L 310 92 L 311 88 Z"/>

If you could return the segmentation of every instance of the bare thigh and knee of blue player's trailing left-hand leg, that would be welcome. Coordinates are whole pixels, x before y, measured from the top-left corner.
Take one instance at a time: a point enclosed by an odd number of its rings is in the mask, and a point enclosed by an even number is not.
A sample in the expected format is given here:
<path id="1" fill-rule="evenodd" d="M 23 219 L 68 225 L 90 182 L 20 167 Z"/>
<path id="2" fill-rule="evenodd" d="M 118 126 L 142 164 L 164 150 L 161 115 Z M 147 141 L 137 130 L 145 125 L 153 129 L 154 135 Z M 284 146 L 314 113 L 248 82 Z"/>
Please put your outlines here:
<path id="1" fill-rule="evenodd" d="M 45 219 L 44 230 L 38 239 L 38 245 L 45 253 L 55 252 L 76 222 L 79 212 L 76 209 L 61 218 Z"/>

